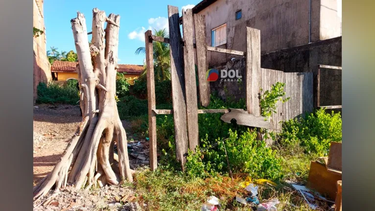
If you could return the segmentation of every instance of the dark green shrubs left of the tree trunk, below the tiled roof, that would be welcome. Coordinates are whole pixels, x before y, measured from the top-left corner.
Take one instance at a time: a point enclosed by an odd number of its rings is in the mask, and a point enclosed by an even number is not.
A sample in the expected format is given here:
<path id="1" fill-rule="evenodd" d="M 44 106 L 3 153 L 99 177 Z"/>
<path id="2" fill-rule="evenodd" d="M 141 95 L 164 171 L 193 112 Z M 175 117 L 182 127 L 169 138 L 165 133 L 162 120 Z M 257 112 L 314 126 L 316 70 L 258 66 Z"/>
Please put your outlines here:
<path id="1" fill-rule="evenodd" d="M 79 101 L 76 80 L 69 80 L 67 84 L 60 85 L 55 81 L 48 84 L 39 83 L 37 86 L 37 104 L 41 103 L 67 103 L 76 105 Z"/>

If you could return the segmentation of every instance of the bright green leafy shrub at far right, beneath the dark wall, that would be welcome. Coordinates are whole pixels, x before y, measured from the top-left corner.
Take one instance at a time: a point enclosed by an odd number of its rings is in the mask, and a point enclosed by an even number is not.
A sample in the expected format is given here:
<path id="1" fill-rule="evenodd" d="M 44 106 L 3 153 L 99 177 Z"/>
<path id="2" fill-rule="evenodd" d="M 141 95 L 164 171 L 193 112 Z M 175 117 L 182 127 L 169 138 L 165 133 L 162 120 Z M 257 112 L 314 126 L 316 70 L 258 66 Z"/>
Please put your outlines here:
<path id="1" fill-rule="evenodd" d="M 305 118 L 290 119 L 282 125 L 280 143 L 283 146 L 300 144 L 306 153 L 326 156 L 331 141 L 341 142 L 341 120 L 340 113 L 329 114 L 323 108 Z"/>

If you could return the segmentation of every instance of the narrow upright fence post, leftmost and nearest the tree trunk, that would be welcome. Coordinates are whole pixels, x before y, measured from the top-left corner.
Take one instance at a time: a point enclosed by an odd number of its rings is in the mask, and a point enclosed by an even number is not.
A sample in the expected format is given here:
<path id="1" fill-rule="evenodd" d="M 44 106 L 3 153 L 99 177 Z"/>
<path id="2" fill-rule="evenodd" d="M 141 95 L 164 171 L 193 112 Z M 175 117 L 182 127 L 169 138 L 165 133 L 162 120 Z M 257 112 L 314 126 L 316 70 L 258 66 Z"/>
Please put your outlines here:
<path id="1" fill-rule="evenodd" d="M 152 40 L 149 37 L 151 30 L 144 33 L 146 45 L 146 66 L 147 66 L 147 97 L 148 97 L 148 136 L 150 139 L 150 168 L 154 171 L 158 167 L 156 154 L 156 115 L 152 112 L 156 107 L 155 102 L 155 79 L 154 79 L 154 58 Z"/>

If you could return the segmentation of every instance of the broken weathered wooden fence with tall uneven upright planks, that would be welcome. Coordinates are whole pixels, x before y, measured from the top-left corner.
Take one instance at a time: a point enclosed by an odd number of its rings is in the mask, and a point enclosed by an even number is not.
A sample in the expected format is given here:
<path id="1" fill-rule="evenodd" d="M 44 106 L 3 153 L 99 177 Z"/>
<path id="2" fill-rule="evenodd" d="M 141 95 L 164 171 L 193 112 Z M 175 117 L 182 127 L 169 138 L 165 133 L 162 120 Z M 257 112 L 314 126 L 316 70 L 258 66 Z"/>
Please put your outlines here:
<path id="1" fill-rule="evenodd" d="M 268 70 L 260 67 L 260 31 L 246 29 L 246 52 L 207 46 L 205 16 L 192 14 L 192 10 L 182 11 L 184 39 L 180 32 L 178 7 L 168 5 L 169 38 L 153 36 L 150 30 L 145 32 L 148 122 L 150 140 L 150 167 L 157 168 L 156 153 L 156 115 L 173 114 L 175 129 L 176 159 L 182 169 L 186 163 L 188 148 L 195 150 L 198 140 L 198 114 L 224 113 L 221 119 L 230 122 L 236 119 L 237 124 L 280 130 L 282 120 L 298 117 L 313 108 L 313 73 L 283 73 L 279 70 Z M 195 30 L 194 30 L 195 29 Z M 195 31 L 195 44 L 193 43 Z M 170 70 L 172 84 L 172 110 L 157 110 L 155 103 L 155 79 L 153 66 L 152 42 L 164 42 L 170 46 Z M 198 87 L 194 67 L 194 48 L 197 53 Z M 215 51 L 246 58 L 246 110 L 198 109 L 198 103 L 207 107 L 210 104 L 210 86 L 206 78 L 208 70 L 207 51 Z M 265 121 L 260 116 L 259 95 L 261 89 L 269 90 L 277 81 L 286 83 L 286 96 L 291 97 L 287 103 L 278 104 L 277 113 Z M 198 92 L 197 92 L 198 90 Z M 197 100 L 199 94 L 200 102 Z M 270 141 L 268 141 L 270 142 Z"/>

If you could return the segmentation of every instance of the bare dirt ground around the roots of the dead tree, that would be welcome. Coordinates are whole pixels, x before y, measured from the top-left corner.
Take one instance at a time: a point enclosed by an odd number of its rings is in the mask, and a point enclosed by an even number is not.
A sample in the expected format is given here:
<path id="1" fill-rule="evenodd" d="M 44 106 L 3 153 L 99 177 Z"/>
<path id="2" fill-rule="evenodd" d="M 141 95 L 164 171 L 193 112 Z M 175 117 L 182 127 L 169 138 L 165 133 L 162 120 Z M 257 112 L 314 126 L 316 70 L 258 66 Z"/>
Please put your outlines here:
<path id="1" fill-rule="evenodd" d="M 34 107 L 34 185 L 43 179 L 59 161 L 68 144 L 67 141 L 76 131 L 81 118 L 78 106 L 38 105 Z M 148 166 L 148 142 L 134 140 L 132 135 L 128 133 L 126 121 L 122 121 L 122 124 L 127 131 L 131 167 L 135 170 L 146 168 Z M 133 202 L 135 198 L 134 190 L 130 186 L 106 186 L 79 191 L 66 188 L 47 205 L 41 205 L 49 196 L 50 194 L 34 203 L 34 210 L 141 210 L 141 206 Z"/>

